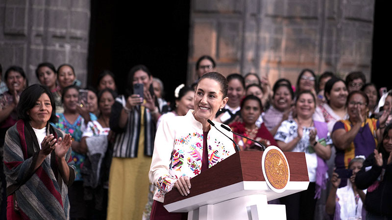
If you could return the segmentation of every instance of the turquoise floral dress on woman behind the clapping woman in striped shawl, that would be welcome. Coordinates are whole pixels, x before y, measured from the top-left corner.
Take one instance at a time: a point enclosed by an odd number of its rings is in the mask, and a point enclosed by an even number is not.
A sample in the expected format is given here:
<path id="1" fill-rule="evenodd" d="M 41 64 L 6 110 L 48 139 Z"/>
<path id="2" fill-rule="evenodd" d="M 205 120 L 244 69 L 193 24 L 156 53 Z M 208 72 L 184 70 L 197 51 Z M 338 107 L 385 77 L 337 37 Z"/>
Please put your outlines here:
<path id="1" fill-rule="evenodd" d="M 58 117 L 58 122 L 53 125 L 54 127 L 60 129 L 61 131 L 65 133 L 69 133 L 72 136 L 73 141 L 80 141 L 82 138 L 82 133 L 86 130 L 86 125 L 84 123 L 84 118 L 82 116 L 78 116 L 77 119 L 73 124 L 68 122 L 68 120 L 65 118 L 64 113 L 59 113 L 56 114 Z M 91 120 L 97 120 L 97 117 L 90 113 L 90 118 Z M 80 174 L 80 169 L 83 166 L 83 162 L 86 158 L 85 154 L 79 154 L 74 151 L 72 151 L 72 159 L 73 162 L 75 163 L 75 181 L 80 181 L 83 180 L 82 175 Z"/>

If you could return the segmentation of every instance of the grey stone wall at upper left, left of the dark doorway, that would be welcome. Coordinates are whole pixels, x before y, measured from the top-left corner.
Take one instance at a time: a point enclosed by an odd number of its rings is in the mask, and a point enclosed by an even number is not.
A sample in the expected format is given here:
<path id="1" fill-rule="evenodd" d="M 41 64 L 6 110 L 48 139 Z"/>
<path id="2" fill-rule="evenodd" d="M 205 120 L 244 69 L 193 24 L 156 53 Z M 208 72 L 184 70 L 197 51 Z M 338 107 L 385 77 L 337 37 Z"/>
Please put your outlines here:
<path id="1" fill-rule="evenodd" d="M 0 18 L 3 72 L 22 66 L 33 84 L 39 63 L 70 63 L 85 84 L 90 0 L 2 0 Z"/>

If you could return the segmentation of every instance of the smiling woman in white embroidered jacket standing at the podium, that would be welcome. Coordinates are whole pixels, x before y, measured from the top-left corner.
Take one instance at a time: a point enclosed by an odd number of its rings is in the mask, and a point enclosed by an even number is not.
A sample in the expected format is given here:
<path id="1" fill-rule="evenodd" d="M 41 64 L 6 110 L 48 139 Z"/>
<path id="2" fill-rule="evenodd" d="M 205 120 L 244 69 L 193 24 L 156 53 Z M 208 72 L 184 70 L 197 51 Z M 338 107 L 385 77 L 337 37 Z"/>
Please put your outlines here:
<path id="1" fill-rule="evenodd" d="M 163 207 L 165 194 L 174 187 L 188 196 L 192 192 L 190 178 L 235 153 L 233 143 L 207 122 L 226 105 L 227 89 L 227 80 L 220 73 L 204 74 L 196 86 L 195 110 L 159 124 L 148 174 L 150 182 L 158 187 L 151 220 L 187 219 L 188 213 L 169 213 Z M 220 127 L 220 123 L 214 123 Z M 233 137 L 230 132 L 222 132 Z"/>

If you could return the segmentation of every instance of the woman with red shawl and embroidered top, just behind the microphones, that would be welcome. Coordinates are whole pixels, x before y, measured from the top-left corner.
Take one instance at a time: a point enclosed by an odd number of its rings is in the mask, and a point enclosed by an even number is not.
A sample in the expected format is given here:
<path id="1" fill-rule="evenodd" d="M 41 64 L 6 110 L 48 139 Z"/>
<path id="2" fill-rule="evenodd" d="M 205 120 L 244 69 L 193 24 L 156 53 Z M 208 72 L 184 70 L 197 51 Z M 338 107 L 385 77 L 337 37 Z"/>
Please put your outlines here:
<path id="1" fill-rule="evenodd" d="M 256 140 L 264 144 L 266 147 L 273 145 L 277 146 L 271 133 L 267 130 L 264 123 L 259 126 L 256 121 L 261 114 L 262 105 L 258 97 L 254 95 L 245 96 L 241 102 L 241 118 L 243 122 L 234 122 L 230 124 L 233 132 L 239 133 L 250 139 Z M 253 143 L 251 140 L 235 135 L 234 140 L 238 143 L 242 151 L 246 150 L 260 150 L 261 146 Z"/>

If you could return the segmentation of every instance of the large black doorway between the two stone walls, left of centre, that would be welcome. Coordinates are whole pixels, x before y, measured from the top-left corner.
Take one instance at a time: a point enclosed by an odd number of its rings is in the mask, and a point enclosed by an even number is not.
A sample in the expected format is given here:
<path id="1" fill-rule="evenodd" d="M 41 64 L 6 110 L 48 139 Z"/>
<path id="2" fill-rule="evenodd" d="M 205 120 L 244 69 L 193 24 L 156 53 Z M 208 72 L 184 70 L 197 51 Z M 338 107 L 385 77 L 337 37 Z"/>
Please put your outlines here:
<path id="1" fill-rule="evenodd" d="M 92 0 L 88 84 L 96 86 L 100 71 L 109 69 L 122 94 L 129 69 L 144 64 L 171 100 L 186 83 L 189 15 L 189 0 Z"/>

